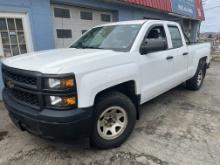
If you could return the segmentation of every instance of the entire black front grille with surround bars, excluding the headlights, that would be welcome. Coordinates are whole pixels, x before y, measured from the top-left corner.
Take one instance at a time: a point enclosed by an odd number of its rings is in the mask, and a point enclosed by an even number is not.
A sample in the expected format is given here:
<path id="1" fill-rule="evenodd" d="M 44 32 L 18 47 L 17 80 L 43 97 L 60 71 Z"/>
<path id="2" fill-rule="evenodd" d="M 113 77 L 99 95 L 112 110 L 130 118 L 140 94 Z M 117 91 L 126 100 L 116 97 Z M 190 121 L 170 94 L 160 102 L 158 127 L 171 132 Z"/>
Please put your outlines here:
<path id="1" fill-rule="evenodd" d="M 13 101 L 24 104 L 25 106 L 30 106 L 37 111 L 48 108 L 46 96 L 53 96 L 55 94 L 62 96 L 64 94 L 76 95 L 76 89 L 70 91 L 44 89 L 42 84 L 44 79 L 48 78 L 49 75 L 44 75 L 40 72 L 11 68 L 2 64 L 2 73 L 6 91 L 5 94 L 8 94 Z M 62 78 L 70 76 L 72 77 L 74 75 L 60 75 Z"/>

